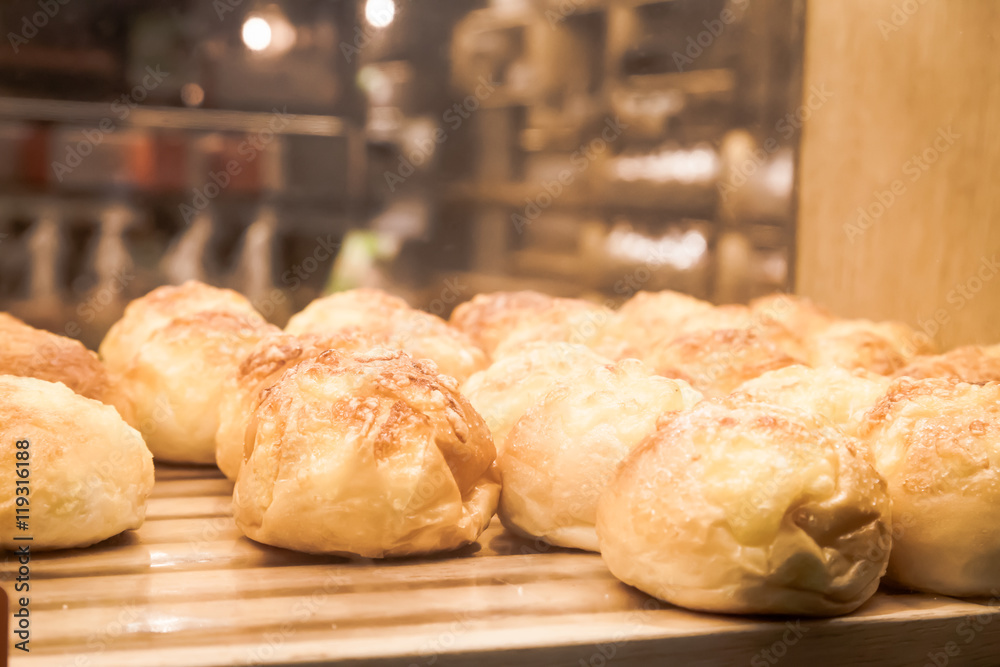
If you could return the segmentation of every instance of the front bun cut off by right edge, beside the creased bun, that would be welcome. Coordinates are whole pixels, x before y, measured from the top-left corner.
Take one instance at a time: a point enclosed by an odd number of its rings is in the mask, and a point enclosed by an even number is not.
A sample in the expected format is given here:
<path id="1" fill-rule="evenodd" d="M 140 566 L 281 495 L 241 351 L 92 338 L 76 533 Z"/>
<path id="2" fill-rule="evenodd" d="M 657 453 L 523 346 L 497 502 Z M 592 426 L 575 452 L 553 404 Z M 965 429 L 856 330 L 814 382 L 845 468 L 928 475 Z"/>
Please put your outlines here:
<path id="1" fill-rule="evenodd" d="M 956 596 L 1000 589 L 1000 383 L 895 380 L 861 427 L 889 482 L 887 577 Z"/>

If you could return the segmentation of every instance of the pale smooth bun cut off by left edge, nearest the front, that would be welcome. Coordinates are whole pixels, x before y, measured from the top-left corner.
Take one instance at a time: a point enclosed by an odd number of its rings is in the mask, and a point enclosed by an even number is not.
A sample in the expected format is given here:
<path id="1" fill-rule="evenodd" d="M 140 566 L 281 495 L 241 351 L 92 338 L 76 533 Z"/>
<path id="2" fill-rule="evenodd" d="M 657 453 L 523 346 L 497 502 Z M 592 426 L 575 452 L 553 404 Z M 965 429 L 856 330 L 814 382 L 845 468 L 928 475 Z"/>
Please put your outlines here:
<path id="1" fill-rule="evenodd" d="M 85 547 L 142 525 L 153 457 L 113 407 L 62 384 L 2 375 L 0 414 L 0 546 Z M 22 486 L 27 530 L 16 526 Z"/>

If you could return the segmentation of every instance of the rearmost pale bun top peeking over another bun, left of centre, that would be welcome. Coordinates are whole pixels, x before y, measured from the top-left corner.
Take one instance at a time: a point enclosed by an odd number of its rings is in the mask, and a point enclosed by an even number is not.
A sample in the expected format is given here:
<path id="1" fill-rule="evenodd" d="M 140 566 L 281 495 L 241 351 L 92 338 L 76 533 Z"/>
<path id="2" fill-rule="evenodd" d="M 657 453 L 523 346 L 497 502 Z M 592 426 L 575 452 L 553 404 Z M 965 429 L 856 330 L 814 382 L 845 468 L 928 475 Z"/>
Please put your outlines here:
<path id="1" fill-rule="evenodd" d="M 312 301 L 292 315 L 285 332 L 295 336 L 327 335 L 357 328 L 369 335 L 382 335 L 387 332 L 392 315 L 411 310 L 399 297 L 379 289 L 347 290 Z"/>

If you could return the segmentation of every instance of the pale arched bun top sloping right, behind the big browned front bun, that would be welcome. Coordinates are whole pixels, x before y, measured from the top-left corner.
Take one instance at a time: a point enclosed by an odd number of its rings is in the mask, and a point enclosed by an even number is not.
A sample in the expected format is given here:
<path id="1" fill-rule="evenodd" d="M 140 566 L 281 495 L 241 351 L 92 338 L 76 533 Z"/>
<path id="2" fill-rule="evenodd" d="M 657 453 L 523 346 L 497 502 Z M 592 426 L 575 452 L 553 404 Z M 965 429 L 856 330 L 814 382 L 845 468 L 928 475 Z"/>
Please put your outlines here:
<path id="1" fill-rule="evenodd" d="M 415 310 L 402 299 L 374 289 L 358 289 L 316 299 L 292 317 L 285 332 L 329 335 L 356 329 L 386 348 L 430 359 L 438 370 L 464 382 L 486 368 L 485 353 L 465 334 L 436 315 Z"/>

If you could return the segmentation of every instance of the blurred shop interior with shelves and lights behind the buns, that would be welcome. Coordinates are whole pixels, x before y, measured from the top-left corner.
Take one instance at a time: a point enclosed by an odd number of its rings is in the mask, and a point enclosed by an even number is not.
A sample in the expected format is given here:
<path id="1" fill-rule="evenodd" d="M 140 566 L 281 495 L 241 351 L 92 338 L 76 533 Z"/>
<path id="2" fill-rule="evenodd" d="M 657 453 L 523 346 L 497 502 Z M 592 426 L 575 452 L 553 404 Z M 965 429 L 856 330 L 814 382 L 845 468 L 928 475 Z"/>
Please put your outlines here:
<path id="1" fill-rule="evenodd" d="M 792 285 L 800 0 L 11 0 L 0 310 Z"/>

